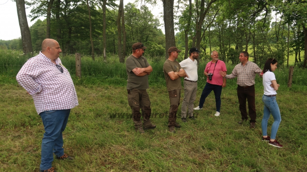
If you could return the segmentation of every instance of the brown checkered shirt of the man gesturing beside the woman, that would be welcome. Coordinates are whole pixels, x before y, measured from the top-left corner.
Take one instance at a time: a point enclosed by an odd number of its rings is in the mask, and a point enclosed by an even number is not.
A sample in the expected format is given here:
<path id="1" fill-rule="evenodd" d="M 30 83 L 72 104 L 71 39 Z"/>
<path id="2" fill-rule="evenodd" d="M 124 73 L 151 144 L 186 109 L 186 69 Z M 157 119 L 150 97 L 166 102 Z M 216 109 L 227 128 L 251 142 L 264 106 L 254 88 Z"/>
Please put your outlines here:
<path id="1" fill-rule="evenodd" d="M 243 66 L 242 63 L 239 63 L 232 70 L 230 75 L 226 75 L 226 79 L 237 78 L 237 84 L 241 87 L 252 86 L 255 84 L 255 76 L 256 73 L 260 74 L 262 70 L 251 61 L 247 61 L 247 63 Z"/>

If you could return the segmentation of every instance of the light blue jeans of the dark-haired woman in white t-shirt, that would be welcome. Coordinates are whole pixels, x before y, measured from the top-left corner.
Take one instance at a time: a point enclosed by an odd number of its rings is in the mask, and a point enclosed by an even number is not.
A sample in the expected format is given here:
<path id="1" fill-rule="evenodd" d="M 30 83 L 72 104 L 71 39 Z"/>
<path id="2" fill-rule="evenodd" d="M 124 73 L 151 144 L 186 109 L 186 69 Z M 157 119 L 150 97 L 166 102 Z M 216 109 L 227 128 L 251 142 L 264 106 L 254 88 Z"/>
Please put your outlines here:
<path id="1" fill-rule="evenodd" d="M 266 131 L 267 131 L 268 120 L 270 118 L 270 114 L 272 114 L 274 122 L 271 129 L 271 139 L 275 139 L 279 124 L 282 121 L 282 118 L 280 117 L 279 107 L 276 102 L 276 96 L 269 97 L 263 95 L 262 102 L 264 103 L 263 118 L 261 121 L 262 135 L 267 136 Z"/>

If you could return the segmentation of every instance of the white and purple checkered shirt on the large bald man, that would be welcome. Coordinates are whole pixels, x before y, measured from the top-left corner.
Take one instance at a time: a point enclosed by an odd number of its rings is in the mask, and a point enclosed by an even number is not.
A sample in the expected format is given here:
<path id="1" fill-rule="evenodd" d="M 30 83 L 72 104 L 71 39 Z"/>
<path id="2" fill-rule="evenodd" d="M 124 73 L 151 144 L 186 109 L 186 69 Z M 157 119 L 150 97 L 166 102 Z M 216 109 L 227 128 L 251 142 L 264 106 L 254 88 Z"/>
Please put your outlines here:
<path id="1" fill-rule="evenodd" d="M 22 66 L 16 80 L 32 95 L 37 114 L 46 110 L 72 109 L 78 103 L 77 93 L 68 70 L 57 58 L 57 67 L 41 52 Z"/>

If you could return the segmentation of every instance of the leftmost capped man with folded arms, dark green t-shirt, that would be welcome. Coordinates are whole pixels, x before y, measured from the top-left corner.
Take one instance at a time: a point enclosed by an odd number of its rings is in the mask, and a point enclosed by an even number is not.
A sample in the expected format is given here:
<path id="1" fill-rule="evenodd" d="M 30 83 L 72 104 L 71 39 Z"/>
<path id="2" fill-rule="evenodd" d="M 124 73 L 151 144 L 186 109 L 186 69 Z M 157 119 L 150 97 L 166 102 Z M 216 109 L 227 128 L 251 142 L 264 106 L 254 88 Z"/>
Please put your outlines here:
<path id="1" fill-rule="evenodd" d="M 128 104 L 132 110 L 135 130 L 141 134 L 145 133 L 144 129 L 156 128 L 156 125 L 150 122 L 150 99 L 146 92 L 149 88 L 148 75 L 153 71 L 147 59 L 142 56 L 146 48 L 142 43 L 134 43 L 132 54 L 126 60 Z M 142 109 L 144 129 L 140 109 Z"/>

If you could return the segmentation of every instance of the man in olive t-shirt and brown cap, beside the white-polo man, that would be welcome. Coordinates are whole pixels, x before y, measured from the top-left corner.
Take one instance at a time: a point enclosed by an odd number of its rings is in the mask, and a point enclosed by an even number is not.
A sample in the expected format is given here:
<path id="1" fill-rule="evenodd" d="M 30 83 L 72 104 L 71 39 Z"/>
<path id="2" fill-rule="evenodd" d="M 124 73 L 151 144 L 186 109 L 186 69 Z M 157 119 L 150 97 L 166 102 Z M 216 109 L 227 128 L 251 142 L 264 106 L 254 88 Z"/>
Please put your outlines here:
<path id="1" fill-rule="evenodd" d="M 178 58 L 177 47 L 170 47 L 168 50 L 169 58 L 164 62 L 163 72 L 166 80 L 166 88 L 169 92 L 169 131 L 175 133 L 175 127 L 180 128 L 181 126 L 176 122 L 176 114 L 178 106 L 180 104 L 180 90 L 181 80 L 180 77 L 187 77 L 185 70 L 181 68 L 180 64 L 176 61 Z"/>

